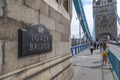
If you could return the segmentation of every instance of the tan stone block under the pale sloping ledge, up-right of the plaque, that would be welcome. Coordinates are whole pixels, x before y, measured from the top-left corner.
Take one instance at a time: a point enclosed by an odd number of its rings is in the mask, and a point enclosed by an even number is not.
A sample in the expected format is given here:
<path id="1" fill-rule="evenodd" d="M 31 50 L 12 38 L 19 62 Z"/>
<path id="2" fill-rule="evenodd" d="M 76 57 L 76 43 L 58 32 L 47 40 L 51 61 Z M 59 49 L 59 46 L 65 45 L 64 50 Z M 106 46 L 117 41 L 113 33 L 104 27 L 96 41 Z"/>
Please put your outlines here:
<path id="1" fill-rule="evenodd" d="M 49 15 L 50 17 L 52 17 L 53 19 L 55 19 L 58 22 L 61 22 L 61 17 L 62 15 L 60 13 L 58 13 L 56 10 L 54 10 L 53 8 L 49 7 Z"/>

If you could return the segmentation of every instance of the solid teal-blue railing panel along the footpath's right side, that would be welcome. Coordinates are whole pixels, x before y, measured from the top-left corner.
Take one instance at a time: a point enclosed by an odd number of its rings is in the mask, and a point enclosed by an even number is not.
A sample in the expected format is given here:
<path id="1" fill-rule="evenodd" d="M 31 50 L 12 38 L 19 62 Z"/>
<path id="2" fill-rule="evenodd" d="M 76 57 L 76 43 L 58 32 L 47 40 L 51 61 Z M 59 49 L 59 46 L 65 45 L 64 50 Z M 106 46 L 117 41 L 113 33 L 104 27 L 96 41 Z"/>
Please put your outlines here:
<path id="1" fill-rule="evenodd" d="M 115 56 L 110 50 L 108 50 L 109 53 L 109 60 L 112 65 L 112 69 L 115 72 L 118 80 L 120 80 L 120 58 Z"/>

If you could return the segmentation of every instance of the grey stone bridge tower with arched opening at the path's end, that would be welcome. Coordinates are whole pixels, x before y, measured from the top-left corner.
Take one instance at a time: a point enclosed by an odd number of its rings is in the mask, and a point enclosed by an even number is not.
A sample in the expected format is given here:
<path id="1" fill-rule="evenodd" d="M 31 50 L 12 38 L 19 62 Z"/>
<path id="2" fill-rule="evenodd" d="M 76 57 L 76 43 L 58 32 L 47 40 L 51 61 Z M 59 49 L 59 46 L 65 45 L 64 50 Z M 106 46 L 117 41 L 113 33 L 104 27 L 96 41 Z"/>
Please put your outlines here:
<path id="1" fill-rule="evenodd" d="M 96 40 L 117 39 L 116 0 L 93 0 Z"/>

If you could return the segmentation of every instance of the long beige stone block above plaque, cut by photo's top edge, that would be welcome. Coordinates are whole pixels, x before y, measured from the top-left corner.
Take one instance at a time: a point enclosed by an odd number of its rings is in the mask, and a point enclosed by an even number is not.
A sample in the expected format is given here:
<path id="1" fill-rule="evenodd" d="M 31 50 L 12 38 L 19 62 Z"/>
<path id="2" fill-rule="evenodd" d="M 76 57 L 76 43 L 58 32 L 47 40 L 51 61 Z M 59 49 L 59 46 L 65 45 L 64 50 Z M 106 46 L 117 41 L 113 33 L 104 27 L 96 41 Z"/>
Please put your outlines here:
<path id="1" fill-rule="evenodd" d="M 35 10 L 40 10 L 40 13 L 48 16 L 49 6 L 42 0 L 25 0 L 25 4 Z"/>

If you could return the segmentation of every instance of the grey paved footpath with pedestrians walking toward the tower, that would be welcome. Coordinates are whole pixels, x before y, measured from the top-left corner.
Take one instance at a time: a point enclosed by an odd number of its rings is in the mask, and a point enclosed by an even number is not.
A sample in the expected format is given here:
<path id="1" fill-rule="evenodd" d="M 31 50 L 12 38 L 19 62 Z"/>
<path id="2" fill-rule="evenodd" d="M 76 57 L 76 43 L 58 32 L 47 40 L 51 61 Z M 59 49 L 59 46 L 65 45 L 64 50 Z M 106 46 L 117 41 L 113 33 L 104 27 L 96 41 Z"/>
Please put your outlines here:
<path id="1" fill-rule="evenodd" d="M 72 57 L 75 80 L 114 80 L 110 65 L 102 65 L 102 55 L 95 50 L 93 55 L 89 49 Z"/>

